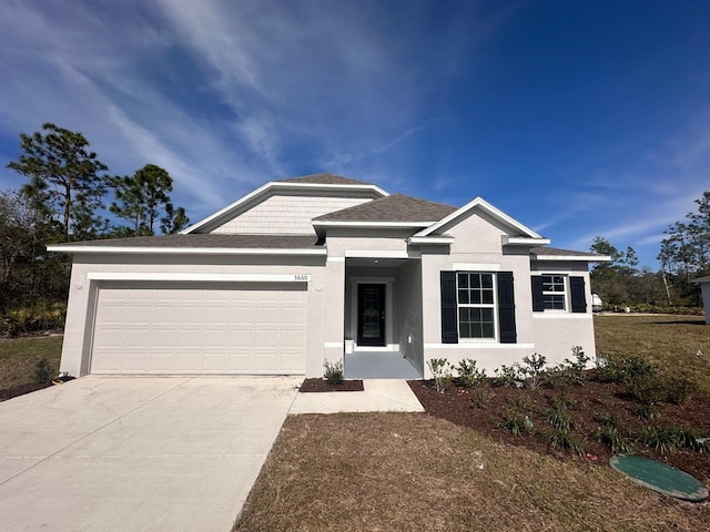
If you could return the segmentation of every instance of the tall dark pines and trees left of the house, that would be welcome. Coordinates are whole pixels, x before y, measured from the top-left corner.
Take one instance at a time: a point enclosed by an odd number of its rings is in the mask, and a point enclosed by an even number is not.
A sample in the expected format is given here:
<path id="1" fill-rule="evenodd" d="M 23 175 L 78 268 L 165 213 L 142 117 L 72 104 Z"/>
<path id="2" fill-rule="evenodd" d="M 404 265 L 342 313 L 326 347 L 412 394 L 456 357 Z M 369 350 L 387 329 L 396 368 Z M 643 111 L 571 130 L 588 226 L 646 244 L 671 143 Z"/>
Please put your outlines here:
<path id="1" fill-rule="evenodd" d="M 171 201 L 166 170 L 146 164 L 111 175 L 81 133 L 51 123 L 20 134 L 20 155 L 7 167 L 27 182 L 0 191 L 0 313 L 63 304 L 71 260 L 48 253 L 48 244 L 178 233 L 190 224 Z"/>

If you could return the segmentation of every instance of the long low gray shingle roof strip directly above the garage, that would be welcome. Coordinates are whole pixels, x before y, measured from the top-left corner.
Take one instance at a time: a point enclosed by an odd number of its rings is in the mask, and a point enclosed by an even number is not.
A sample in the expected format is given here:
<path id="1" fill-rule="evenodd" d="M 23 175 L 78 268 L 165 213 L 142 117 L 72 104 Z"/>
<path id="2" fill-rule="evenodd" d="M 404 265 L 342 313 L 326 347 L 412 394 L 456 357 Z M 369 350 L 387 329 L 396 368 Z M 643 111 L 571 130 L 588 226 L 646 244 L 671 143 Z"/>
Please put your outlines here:
<path id="1" fill-rule="evenodd" d="M 253 249 L 308 249 L 318 246 L 315 235 L 189 235 L 136 236 L 105 241 L 71 242 L 57 247 L 220 247 Z"/>

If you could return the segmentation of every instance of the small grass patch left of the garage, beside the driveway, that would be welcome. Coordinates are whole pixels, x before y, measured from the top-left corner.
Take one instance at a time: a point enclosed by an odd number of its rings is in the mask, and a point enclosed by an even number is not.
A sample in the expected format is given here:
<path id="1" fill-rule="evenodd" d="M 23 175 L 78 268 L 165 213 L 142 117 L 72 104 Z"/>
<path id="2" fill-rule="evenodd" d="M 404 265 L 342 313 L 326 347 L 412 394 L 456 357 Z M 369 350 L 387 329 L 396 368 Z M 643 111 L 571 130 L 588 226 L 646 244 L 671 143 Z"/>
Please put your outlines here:
<path id="1" fill-rule="evenodd" d="M 38 360 L 47 359 L 52 376 L 59 371 L 62 336 L 0 340 L 0 388 L 33 382 Z"/>

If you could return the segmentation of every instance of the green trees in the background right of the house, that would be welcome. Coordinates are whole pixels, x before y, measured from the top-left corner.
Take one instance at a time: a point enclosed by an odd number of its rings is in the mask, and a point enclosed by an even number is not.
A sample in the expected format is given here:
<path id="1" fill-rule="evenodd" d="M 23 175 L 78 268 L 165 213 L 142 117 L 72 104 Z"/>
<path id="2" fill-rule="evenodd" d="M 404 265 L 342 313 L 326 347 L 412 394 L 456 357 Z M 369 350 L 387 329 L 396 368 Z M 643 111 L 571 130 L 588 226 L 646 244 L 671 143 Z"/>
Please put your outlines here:
<path id="1" fill-rule="evenodd" d="M 592 291 L 607 306 L 649 310 L 702 306 L 700 287 L 693 280 L 710 275 L 710 192 L 694 203 L 696 211 L 665 232 L 658 272 L 639 269 L 633 248 L 619 250 L 600 236 L 594 239 L 590 250 L 611 257 L 610 263 L 595 265 L 590 274 Z"/>

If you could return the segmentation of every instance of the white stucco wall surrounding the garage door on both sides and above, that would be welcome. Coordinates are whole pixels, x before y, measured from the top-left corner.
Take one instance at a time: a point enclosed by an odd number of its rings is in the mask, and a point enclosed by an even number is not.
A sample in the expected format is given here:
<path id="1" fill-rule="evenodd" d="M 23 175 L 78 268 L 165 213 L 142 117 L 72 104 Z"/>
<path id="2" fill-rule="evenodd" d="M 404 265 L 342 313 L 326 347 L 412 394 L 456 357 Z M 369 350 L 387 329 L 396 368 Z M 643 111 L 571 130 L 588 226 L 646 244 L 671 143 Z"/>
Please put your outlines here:
<path id="1" fill-rule="evenodd" d="M 148 260 L 151 260 L 150 263 Z M 241 264 L 235 264 L 241 263 Z M 140 274 L 155 275 L 214 275 L 250 274 L 254 278 L 270 275 L 311 275 L 307 283 L 306 376 L 323 375 L 325 257 L 170 257 L 170 256 L 77 256 L 72 266 L 69 308 L 64 326 L 64 344 L 60 371 L 73 376 L 89 372 L 93 318 L 97 294 L 101 280 L 91 280 L 97 274 L 118 274 L 126 279 Z M 261 276 L 261 277 L 260 277 Z M 264 280 L 260 282 L 261 284 Z M 342 308 L 342 307 L 341 307 Z M 342 323 L 342 320 L 341 320 Z M 342 342 L 342 336 L 341 336 Z"/>

